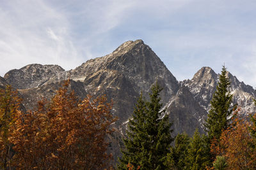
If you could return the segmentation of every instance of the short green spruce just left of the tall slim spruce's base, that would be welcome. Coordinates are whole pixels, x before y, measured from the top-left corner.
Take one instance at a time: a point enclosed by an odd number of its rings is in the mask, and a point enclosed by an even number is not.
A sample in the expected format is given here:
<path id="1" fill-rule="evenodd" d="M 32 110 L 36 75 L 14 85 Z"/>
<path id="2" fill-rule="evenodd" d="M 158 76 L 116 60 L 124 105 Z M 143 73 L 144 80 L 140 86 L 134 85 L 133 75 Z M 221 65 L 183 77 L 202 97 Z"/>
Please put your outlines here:
<path id="1" fill-rule="evenodd" d="M 205 167 L 209 165 L 209 154 L 207 153 L 207 145 L 205 145 L 204 138 L 204 136 L 200 136 L 198 129 L 196 129 L 189 143 L 186 169 L 205 169 Z"/>

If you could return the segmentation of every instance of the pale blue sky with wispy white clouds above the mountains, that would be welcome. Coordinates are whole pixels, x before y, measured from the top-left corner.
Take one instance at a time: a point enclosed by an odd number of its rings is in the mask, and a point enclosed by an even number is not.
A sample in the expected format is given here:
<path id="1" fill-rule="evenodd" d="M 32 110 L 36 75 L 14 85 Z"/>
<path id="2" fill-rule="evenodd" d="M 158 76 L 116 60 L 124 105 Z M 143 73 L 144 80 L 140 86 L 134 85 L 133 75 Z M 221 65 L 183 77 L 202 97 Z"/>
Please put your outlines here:
<path id="1" fill-rule="evenodd" d="M 256 87 L 255 0 L 1 0 L 0 76 L 28 64 L 74 69 L 143 39 L 177 80 L 204 66 Z"/>

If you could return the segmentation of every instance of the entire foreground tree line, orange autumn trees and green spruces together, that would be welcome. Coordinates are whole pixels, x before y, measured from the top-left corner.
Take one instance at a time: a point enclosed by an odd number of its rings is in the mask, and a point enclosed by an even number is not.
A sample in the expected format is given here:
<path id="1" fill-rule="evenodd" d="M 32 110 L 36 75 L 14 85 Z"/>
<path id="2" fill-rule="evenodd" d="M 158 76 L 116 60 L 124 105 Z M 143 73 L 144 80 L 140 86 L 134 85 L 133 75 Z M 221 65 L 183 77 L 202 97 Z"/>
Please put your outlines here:
<path id="1" fill-rule="evenodd" d="M 225 67 L 204 134 L 195 129 L 191 138 L 186 132 L 173 136 L 161 87 L 152 85 L 148 101 L 141 93 L 117 165 L 107 150 L 117 119 L 113 104 L 104 96 L 80 100 L 68 85 L 69 80 L 51 101 L 42 99 L 26 113 L 17 91 L 0 90 L 1 169 L 256 169 L 256 115 L 240 117 L 232 106 Z"/>

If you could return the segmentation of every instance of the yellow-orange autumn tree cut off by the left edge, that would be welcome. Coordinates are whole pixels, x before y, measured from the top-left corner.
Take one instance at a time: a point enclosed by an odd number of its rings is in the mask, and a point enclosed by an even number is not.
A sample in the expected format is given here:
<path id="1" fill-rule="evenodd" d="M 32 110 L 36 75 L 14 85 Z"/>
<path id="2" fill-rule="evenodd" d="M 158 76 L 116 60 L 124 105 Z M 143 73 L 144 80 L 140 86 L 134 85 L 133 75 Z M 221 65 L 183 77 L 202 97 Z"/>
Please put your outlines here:
<path id="1" fill-rule="evenodd" d="M 12 143 L 9 140 L 10 128 L 15 122 L 20 102 L 17 91 L 13 91 L 10 85 L 0 90 L 0 166 L 2 169 L 10 167 L 13 156 Z"/>

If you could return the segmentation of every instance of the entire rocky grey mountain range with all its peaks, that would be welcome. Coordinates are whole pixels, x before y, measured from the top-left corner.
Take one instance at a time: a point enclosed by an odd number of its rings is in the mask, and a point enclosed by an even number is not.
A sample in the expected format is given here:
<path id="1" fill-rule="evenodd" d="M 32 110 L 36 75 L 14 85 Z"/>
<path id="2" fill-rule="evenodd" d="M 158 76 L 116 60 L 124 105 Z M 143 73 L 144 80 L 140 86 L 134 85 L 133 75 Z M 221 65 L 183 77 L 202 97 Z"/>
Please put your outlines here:
<path id="1" fill-rule="evenodd" d="M 255 111 L 252 99 L 255 90 L 228 73 L 234 102 L 242 106 L 243 113 Z M 30 64 L 13 69 L 0 77 L 0 87 L 7 83 L 19 90 L 26 110 L 36 106 L 38 100 L 51 99 L 63 80 L 70 78 L 70 90 L 83 99 L 86 94 L 105 94 L 113 99 L 113 115 L 118 117 L 118 131 L 109 136 L 114 158 L 120 156 L 121 137 L 125 134 L 127 120 L 132 115 L 140 92 L 148 99 L 148 92 L 157 81 L 163 91 L 162 103 L 173 122 L 173 136 L 186 131 L 192 135 L 195 128 L 202 131 L 202 124 L 210 108 L 216 89 L 218 74 L 210 67 L 202 67 L 191 80 L 178 82 L 152 49 L 142 40 L 127 41 L 113 53 L 88 60 L 81 66 L 65 71 L 60 66 Z"/>

